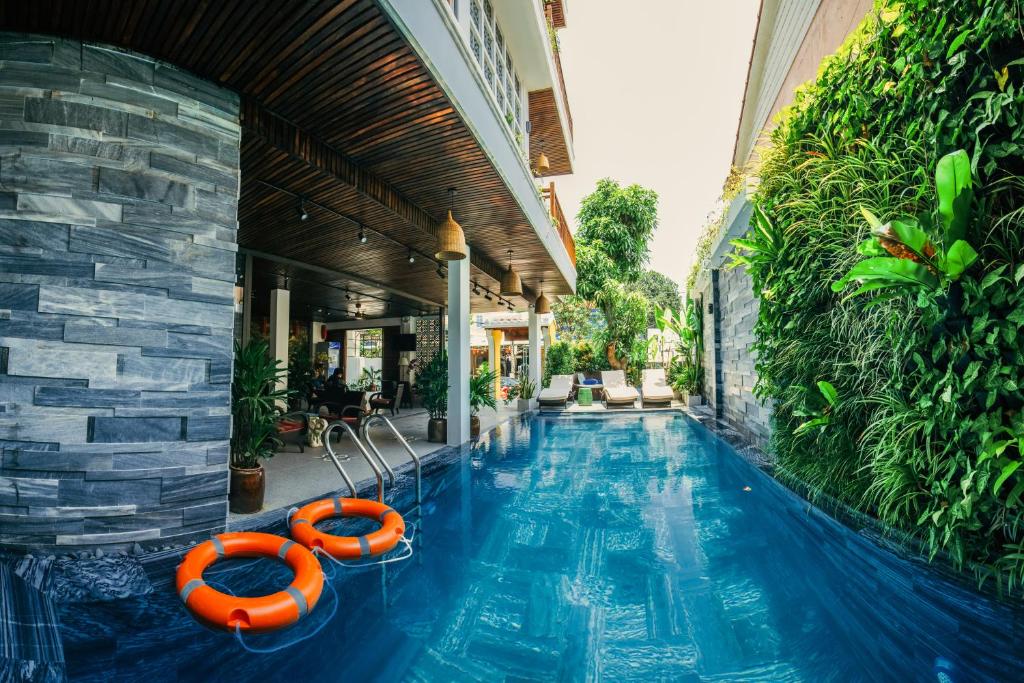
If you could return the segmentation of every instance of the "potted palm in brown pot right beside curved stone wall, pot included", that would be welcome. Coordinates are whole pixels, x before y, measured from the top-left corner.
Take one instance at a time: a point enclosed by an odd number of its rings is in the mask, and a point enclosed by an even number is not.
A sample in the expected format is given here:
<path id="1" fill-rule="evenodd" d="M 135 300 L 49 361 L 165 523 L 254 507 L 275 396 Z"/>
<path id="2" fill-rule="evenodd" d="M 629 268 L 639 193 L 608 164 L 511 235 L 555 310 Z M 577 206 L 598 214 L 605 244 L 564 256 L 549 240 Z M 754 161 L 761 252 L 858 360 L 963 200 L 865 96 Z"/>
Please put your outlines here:
<path id="1" fill-rule="evenodd" d="M 272 458 L 278 439 L 280 405 L 291 393 L 278 387 L 288 372 L 270 357 L 265 341 L 234 347 L 231 381 L 231 512 L 259 512 L 263 507 L 266 476 L 261 461 Z"/>

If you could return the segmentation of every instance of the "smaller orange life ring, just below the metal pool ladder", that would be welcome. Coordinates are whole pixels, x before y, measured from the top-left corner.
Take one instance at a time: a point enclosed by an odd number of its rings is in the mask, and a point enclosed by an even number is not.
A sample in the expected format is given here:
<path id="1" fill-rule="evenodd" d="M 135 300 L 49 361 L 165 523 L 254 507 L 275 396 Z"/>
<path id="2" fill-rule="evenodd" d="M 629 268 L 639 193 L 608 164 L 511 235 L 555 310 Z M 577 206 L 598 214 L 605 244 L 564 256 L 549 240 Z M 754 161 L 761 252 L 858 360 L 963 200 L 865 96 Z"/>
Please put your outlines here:
<path id="1" fill-rule="evenodd" d="M 381 523 L 366 536 L 332 536 L 313 524 L 328 517 L 366 517 Z M 305 506 L 289 520 L 292 538 L 309 549 L 323 548 L 338 559 L 357 559 L 381 555 L 392 550 L 406 532 L 401 515 L 377 501 L 361 498 L 326 498 Z"/>

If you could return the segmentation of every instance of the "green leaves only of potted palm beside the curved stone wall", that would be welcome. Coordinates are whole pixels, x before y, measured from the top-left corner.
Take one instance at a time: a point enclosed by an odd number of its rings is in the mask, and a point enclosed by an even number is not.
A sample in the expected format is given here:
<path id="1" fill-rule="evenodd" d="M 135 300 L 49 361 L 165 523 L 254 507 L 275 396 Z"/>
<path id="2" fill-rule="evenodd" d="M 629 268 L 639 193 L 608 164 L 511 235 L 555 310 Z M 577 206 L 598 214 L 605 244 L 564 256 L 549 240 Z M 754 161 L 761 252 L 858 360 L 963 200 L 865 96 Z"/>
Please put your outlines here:
<path id="1" fill-rule="evenodd" d="M 246 469 L 272 458 L 278 438 L 279 404 L 291 391 L 279 389 L 287 375 L 280 360 L 270 357 L 264 341 L 234 346 L 234 374 L 231 380 L 231 465 Z"/>

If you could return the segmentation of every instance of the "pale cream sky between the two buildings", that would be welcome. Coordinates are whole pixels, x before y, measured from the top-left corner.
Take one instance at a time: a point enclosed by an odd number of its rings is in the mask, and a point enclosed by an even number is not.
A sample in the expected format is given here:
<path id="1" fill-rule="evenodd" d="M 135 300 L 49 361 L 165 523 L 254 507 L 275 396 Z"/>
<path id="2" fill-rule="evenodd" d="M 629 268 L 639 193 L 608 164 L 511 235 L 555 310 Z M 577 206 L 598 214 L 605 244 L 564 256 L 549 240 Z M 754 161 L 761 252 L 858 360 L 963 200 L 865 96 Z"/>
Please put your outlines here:
<path id="1" fill-rule="evenodd" d="M 729 172 L 759 0 L 574 0 L 559 32 L 573 174 L 554 178 L 575 225 L 600 178 L 657 191 L 650 267 L 683 286 Z"/>

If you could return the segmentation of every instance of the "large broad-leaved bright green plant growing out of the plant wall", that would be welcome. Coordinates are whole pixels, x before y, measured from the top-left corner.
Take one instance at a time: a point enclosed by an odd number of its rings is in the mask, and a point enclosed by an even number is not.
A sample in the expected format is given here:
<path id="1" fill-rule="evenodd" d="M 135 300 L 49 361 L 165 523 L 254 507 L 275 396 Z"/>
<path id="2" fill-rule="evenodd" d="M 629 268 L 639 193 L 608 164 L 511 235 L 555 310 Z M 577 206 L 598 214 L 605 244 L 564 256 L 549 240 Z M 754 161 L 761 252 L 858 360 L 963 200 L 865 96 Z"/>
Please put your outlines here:
<path id="1" fill-rule="evenodd" d="M 924 215 L 883 223 L 861 208 L 871 237 L 857 246 L 857 252 L 867 258 L 833 283 L 834 292 L 842 292 L 856 283 L 859 287 L 849 296 L 874 292 L 872 303 L 878 303 L 901 294 L 937 291 L 959 280 L 978 259 L 978 253 L 964 239 L 971 223 L 974 199 L 971 160 L 965 151 L 958 150 L 939 160 L 935 188 L 937 220 Z M 939 244 L 930 234 L 936 222 L 942 232 Z"/>

